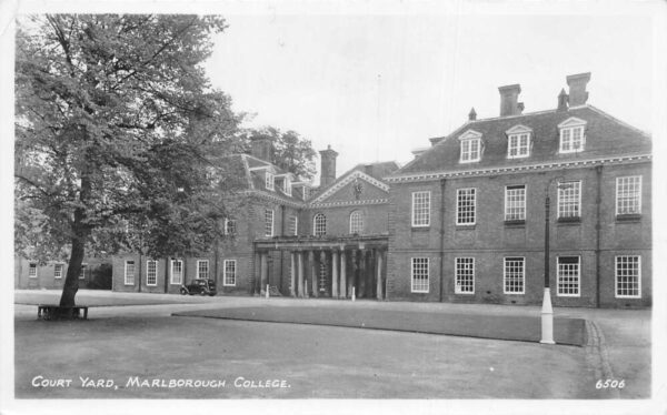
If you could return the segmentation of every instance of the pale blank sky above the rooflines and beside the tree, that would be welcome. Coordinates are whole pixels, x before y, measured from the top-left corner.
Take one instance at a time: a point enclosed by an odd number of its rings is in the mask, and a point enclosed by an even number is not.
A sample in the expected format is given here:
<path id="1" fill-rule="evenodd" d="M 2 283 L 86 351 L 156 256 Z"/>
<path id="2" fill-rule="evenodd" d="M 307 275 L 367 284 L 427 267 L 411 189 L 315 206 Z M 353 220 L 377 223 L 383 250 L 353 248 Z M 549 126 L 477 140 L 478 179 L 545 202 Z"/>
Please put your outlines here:
<path id="1" fill-rule="evenodd" d="M 566 75 L 588 103 L 651 130 L 653 28 L 618 14 L 225 14 L 207 62 L 249 126 L 295 130 L 338 151 L 338 174 L 395 160 L 467 120 L 498 117 L 519 83 L 525 113 L 555 109 Z M 319 166 L 319 161 L 318 161 Z"/>

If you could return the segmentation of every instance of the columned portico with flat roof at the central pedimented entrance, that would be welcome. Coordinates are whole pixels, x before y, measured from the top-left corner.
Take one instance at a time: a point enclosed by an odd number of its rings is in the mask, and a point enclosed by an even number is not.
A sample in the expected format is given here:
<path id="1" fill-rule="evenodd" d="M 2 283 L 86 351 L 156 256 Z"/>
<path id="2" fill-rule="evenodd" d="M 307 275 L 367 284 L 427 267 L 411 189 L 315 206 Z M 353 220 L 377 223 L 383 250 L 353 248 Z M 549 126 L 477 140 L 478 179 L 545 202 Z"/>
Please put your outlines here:
<path id="1" fill-rule="evenodd" d="M 292 297 L 384 300 L 387 242 L 387 235 L 279 236 L 255 241 L 252 292 L 265 293 L 270 280 L 268 259 L 278 251 L 289 259 L 288 292 Z"/>

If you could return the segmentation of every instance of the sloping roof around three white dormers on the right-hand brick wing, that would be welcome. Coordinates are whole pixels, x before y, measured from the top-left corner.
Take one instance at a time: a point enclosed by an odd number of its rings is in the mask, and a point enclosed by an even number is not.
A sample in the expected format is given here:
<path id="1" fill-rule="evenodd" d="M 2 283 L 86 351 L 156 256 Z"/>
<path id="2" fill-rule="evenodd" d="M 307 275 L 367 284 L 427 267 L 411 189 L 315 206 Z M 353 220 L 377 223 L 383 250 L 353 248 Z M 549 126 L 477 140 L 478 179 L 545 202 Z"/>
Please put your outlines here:
<path id="1" fill-rule="evenodd" d="M 577 153 L 560 154 L 558 124 L 573 117 L 587 122 L 585 149 Z M 530 155 L 522 159 L 508 159 L 507 135 L 505 132 L 516 125 L 532 129 Z M 472 163 L 460 163 L 458 136 L 468 130 L 481 133 L 484 149 L 481 160 Z M 522 115 L 469 121 L 449 135 L 431 139 L 431 142 L 434 145 L 429 150 L 396 171 L 392 176 L 422 172 L 474 171 L 488 168 L 647 154 L 651 151 L 648 134 L 593 105 L 570 108 L 565 111 L 549 110 Z"/>

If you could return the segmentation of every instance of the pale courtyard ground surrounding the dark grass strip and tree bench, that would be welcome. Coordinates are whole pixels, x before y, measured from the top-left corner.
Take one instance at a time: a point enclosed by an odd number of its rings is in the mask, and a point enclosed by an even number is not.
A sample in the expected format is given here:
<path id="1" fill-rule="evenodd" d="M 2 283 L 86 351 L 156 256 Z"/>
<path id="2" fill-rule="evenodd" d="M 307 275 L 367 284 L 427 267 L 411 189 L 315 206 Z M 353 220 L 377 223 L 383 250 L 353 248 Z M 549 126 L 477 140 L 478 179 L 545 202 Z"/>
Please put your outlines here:
<path id="1" fill-rule="evenodd" d="M 299 305 L 305 312 L 326 306 L 365 313 L 526 316 L 539 315 L 538 307 L 81 291 L 80 304 L 100 305 L 91 308 L 89 321 L 37 321 L 37 307 L 29 304 L 57 302 L 58 294 L 16 293 L 20 303 L 14 310 L 18 398 L 650 396 L 650 311 L 557 308 L 557 315 L 593 322 L 588 335 L 595 342 L 579 347 L 171 316 L 198 310 Z M 128 305 L 128 297 L 142 305 Z M 625 387 L 597 389 L 601 376 L 624 379 Z M 61 385 L 71 382 L 61 387 L 58 379 Z M 169 387 L 170 382 L 178 387 Z"/>

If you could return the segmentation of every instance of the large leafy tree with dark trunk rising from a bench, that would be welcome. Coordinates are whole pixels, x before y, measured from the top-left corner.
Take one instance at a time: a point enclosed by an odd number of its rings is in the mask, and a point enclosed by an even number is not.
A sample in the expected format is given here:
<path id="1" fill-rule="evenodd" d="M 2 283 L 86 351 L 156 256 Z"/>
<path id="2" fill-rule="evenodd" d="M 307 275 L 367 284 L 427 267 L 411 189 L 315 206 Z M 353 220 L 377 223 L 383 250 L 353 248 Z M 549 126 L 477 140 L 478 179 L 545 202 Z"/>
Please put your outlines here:
<path id="1" fill-rule="evenodd" d="M 218 17 L 56 14 L 19 22 L 16 246 L 64 252 L 74 305 L 86 250 L 188 254 L 226 214 L 211 159 L 236 148 L 238 117 L 201 67 Z"/>

